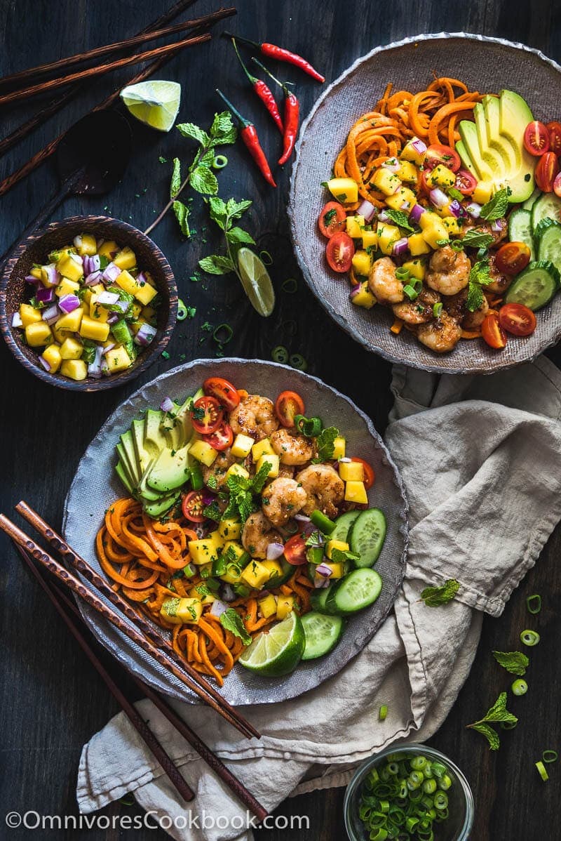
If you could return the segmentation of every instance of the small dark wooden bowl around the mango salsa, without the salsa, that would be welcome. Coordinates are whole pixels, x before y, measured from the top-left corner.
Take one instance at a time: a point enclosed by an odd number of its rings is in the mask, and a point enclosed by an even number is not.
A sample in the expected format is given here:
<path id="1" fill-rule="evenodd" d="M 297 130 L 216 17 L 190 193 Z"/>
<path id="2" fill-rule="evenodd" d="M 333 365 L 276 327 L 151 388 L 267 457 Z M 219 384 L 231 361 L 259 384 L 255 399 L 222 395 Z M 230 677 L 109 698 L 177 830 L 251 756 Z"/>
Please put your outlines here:
<path id="1" fill-rule="evenodd" d="M 131 368 L 111 377 L 93 379 L 88 377 L 81 382 L 63 377 L 59 373 L 48 373 L 41 367 L 39 353 L 36 349 L 24 344 L 21 331 L 12 327 L 13 314 L 18 311 L 19 304 L 29 299 L 29 283 L 25 282 L 26 275 L 34 263 L 45 263 L 49 251 L 65 246 L 74 240 L 77 234 L 93 234 L 104 240 L 115 240 L 118 245 L 129 246 L 139 258 L 139 267 L 149 272 L 154 278 L 160 294 L 158 308 L 157 333 L 149 346 L 139 353 L 139 357 Z M 21 242 L 13 251 L 6 263 L 0 282 L 0 329 L 9 349 L 24 368 L 35 377 L 45 380 L 45 383 L 56 385 L 60 389 L 71 391 L 101 391 L 114 389 L 118 385 L 128 383 L 145 371 L 155 359 L 161 355 L 177 317 L 177 287 L 170 264 L 155 245 L 155 242 L 141 231 L 118 219 L 108 216 L 71 216 L 69 219 L 53 222 L 44 230 L 36 230 L 27 240 Z"/>

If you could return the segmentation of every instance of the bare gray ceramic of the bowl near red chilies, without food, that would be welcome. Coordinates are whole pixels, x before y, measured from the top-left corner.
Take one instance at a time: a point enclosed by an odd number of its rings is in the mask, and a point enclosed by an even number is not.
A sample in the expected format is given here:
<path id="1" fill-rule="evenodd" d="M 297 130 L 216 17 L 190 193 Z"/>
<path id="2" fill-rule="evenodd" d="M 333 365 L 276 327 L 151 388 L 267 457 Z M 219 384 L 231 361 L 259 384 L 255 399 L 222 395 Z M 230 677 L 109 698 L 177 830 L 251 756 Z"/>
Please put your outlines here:
<path id="1" fill-rule="evenodd" d="M 368 350 L 426 371 L 493 373 L 537 357 L 561 338 L 561 295 L 539 312 L 532 336 L 509 338 L 505 350 L 492 351 L 482 340 L 460 341 L 454 352 L 439 356 L 407 331 L 393 336 L 389 309 L 369 311 L 350 303 L 349 284 L 329 271 L 323 257 L 325 240 L 317 230 L 326 201 L 321 182 L 330 177 L 350 126 L 374 107 L 388 82 L 396 90 L 414 93 L 426 87 L 435 72 L 462 79 L 480 92 L 509 87 L 527 99 L 538 119 L 558 119 L 561 67 L 537 50 L 464 33 L 419 35 L 378 47 L 328 87 L 302 126 L 288 211 L 292 241 L 312 292 L 333 320 Z"/>

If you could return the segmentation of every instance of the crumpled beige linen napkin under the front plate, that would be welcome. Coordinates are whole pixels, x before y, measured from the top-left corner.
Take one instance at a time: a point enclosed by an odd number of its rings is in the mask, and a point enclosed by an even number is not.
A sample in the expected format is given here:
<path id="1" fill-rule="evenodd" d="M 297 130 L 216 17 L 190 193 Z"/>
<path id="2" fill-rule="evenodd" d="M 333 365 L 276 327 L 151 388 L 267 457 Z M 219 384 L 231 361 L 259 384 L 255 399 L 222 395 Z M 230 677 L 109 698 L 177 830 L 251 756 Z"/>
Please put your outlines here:
<path id="1" fill-rule="evenodd" d="M 173 703 L 270 810 L 291 793 L 345 785 L 373 751 L 438 729 L 469 673 L 482 611 L 501 615 L 561 517 L 561 373 L 552 362 L 542 357 L 492 377 L 395 368 L 392 390 L 385 437 L 411 506 L 395 611 L 316 690 L 245 707 L 261 740 L 242 738 L 204 706 Z M 454 601 L 438 608 L 419 601 L 423 587 L 445 579 L 460 583 Z M 385 722 L 378 721 L 382 704 Z M 191 814 L 199 820 L 186 821 L 176 791 L 123 714 L 83 749 L 81 812 L 132 791 L 173 838 L 250 841 L 244 807 L 149 701 L 138 707 L 197 792 Z"/>

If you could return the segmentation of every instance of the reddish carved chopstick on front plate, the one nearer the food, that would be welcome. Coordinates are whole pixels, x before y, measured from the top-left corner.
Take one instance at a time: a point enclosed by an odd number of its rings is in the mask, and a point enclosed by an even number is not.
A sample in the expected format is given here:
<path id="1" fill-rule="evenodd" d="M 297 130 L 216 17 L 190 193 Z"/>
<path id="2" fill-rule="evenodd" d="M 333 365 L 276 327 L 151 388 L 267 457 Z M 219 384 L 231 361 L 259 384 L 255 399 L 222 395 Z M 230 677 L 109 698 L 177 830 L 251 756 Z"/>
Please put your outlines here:
<path id="1" fill-rule="evenodd" d="M 71 566 L 83 575 L 84 578 L 87 579 L 99 593 L 104 595 L 107 600 L 111 601 L 113 605 L 118 607 L 119 611 L 121 611 L 127 619 L 132 621 L 135 627 L 138 627 L 139 630 L 144 633 L 144 636 L 147 637 L 150 643 L 153 643 L 156 648 L 163 650 L 167 654 L 168 658 L 176 664 L 176 666 L 183 671 L 186 671 L 191 679 L 197 682 L 197 685 L 202 688 L 204 693 L 227 710 L 230 718 L 237 722 L 235 726 L 238 727 L 240 733 L 244 733 L 244 735 L 248 737 L 254 736 L 255 738 L 260 738 L 260 733 L 255 730 L 253 725 L 249 724 L 249 722 L 247 722 L 241 713 L 234 709 L 233 706 L 230 706 L 228 701 L 224 700 L 223 696 L 221 696 L 220 693 L 214 689 L 207 680 L 205 680 L 202 674 L 199 674 L 196 669 L 193 669 L 191 665 L 181 659 L 165 637 L 162 636 L 162 634 L 160 634 L 160 632 L 157 631 L 155 627 L 149 623 L 149 621 L 144 619 L 144 616 L 139 615 L 139 613 L 134 610 L 134 607 L 132 607 L 127 600 L 123 599 L 122 595 L 116 593 L 111 587 L 111 584 L 103 579 L 101 575 L 97 574 L 96 570 L 93 569 L 90 564 L 81 557 L 81 555 L 78 555 L 72 547 L 68 546 L 64 538 L 55 532 L 55 529 L 45 522 L 37 511 L 31 508 L 31 506 L 24 500 L 18 502 L 18 505 L 15 506 L 15 510 L 18 511 L 18 514 L 21 514 L 21 516 L 24 517 L 24 520 L 29 522 L 30 526 L 34 527 L 35 531 L 49 543 L 50 547 L 52 547 L 55 552 L 60 553 L 60 555 L 68 561 L 68 563 L 71 563 Z"/>

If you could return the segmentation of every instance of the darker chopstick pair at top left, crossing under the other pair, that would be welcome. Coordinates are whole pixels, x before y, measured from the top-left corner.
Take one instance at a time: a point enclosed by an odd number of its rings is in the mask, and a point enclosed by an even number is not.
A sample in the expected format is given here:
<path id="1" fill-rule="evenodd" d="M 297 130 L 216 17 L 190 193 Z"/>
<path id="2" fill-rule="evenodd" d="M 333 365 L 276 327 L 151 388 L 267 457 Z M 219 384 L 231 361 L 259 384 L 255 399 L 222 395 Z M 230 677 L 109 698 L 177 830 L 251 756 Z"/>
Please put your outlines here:
<path id="1" fill-rule="evenodd" d="M 170 20 L 176 18 L 178 14 L 185 11 L 186 8 L 195 3 L 196 0 L 180 0 L 179 3 L 176 3 L 175 6 L 170 8 L 168 12 L 161 15 L 160 18 L 156 19 L 152 24 L 149 24 L 148 27 L 141 30 L 139 35 L 149 34 L 150 32 L 158 31 L 165 24 L 168 24 Z M 191 40 L 193 37 L 197 37 L 199 35 L 205 34 L 206 29 L 210 29 L 213 25 L 217 24 L 220 20 L 225 18 L 231 17 L 233 14 L 236 13 L 235 8 L 220 8 L 217 12 L 213 12 L 208 15 L 204 15 L 202 18 L 195 19 L 191 21 Z M 193 25 L 195 24 L 195 25 Z M 130 40 L 130 39 L 129 39 Z M 123 42 L 119 42 L 123 44 Z M 150 61 L 149 65 L 144 67 L 143 70 L 139 71 L 134 77 L 128 79 L 128 82 L 123 82 L 123 84 L 119 85 L 119 87 L 110 94 L 106 99 L 102 100 L 101 103 L 98 103 L 95 108 L 92 108 L 92 112 L 94 111 L 101 111 L 103 108 L 109 108 L 118 100 L 119 93 L 126 85 L 135 85 L 138 82 L 144 82 L 145 79 L 149 78 L 153 73 L 158 71 L 161 66 L 165 64 L 166 61 L 169 61 L 170 58 L 176 56 L 178 52 L 183 49 L 182 45 L 183 42 L 178 42 L 176 44 L 170 45 L 170 50 L 165 52 L 164 54 L 160 53 L 160 56 L 155 58 L 154 61 Z M 133 48 L 134 49 L 134 48 Z M 143 53 L 139 56 L 139 61 L 146 61 L 146 56 L 148 53 Z M 74 56 L 71 56 L 72 58 Z M 63 60 L 64 61 L 64 60 Z M 107 66 L 106 70 L 107 72 Z M 65 83 L 68 79 L 65 80 Z M 45 106 L 34 114 L 33 117 L 28 119 L 26 122 L 18 126 L 17 129 L 13 130 L 13 132 L 8 135 L 7 137 L 0 140 L 0 156 L 4 155 L 9 149 L 12 149 L 14 145 L 16 145 L 20 140 L 23 140 L 24 137 L 29 135 L 31 131 L 36 128 L 39 124 L 43 123 L 46 119 L 50 118 L 53 114 L 55 114 L 63 105 L 67 102 L 70 102 L 72 98 L 76 96 L 77 93 L 83 91 L 83 86 L 87 84 L 87 80 L 82 82 L 74 82 L 74 84 L 69 87 L 69 89 L 65 92 L 60 94 L 58 98 L 56 98 L 52 103 Z M 54 154 L 58 145 L 60 144 L 60 140 L 64 137 L 64 133 L 55 137 L 54 140 L 51 140 L 50 143 L 45 145 L 43 149 L 40 149 L 38 152 L 35 153 L 33 157 L 27 161 L 22 167 L 11 172 L 8 177 L 4 178 L 2 182 L 0 182 L 0 196 L 3 196 L 5 193 L 8 193 L 18 182 L 20 182 L 23 178 L 27 177 L 31 172 L 39 167 L 44 161 L 48 160 L 48 158 Z"/>

